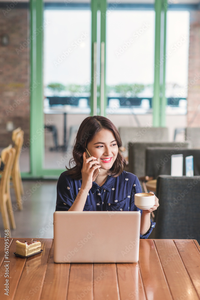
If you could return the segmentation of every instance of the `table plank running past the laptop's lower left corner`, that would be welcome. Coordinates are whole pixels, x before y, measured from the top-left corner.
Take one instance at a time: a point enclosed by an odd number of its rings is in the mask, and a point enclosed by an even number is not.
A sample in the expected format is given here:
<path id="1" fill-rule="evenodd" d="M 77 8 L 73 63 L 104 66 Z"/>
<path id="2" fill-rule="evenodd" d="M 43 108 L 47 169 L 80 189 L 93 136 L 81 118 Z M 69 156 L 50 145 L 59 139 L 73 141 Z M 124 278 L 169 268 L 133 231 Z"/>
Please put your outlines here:
<path id="1" fill-rule="evenodd" d="M 69 271 L 69 263 L 54 263 L 52 244 L 40 300 L 65 300 L 67 298 Z"/>

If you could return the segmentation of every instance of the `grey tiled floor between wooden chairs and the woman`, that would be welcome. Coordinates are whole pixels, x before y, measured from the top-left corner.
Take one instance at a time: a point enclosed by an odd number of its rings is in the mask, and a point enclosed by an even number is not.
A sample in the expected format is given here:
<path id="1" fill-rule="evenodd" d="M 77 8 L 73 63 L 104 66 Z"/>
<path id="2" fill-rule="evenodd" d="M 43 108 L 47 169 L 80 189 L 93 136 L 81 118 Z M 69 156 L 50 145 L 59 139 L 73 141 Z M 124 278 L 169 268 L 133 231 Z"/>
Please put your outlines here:
<path id="1" fill-rule="evenodd" d="M 14 190 L 11 188 L 11 200 L 16 229 L 11 229 L 14 238 L 53 238 L 53 213 L 56 204 L 55 181 L 23 181 L 23 210 L 16 207 Z M 0 232 L 4 236 L 4 227 L 0 215 Z"/>

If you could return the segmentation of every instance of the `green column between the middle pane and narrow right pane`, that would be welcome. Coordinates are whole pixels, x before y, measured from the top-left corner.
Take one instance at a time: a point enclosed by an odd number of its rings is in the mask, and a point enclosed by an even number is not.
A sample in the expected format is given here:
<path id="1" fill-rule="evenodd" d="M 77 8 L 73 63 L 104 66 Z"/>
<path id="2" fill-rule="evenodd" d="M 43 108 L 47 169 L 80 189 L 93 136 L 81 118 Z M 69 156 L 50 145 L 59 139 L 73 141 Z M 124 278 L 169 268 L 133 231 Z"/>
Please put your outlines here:
<path id="1" fill-rule="evenodd" d="M 154 64 L 154 96 L 153 126 L 164 127 L 166 124 L 166 12 L 167 0 L 155 0 L 155 64 Z"/>

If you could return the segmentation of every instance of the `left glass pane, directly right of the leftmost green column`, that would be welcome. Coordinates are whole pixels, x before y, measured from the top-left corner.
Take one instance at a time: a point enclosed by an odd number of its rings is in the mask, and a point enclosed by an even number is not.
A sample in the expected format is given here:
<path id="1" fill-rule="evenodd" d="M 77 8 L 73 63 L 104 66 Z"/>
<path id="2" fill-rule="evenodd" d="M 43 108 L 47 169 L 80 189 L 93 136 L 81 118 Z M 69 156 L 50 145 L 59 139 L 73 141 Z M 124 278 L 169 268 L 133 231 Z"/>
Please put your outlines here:
<path id="1" fill-rule="evenodd" d="M 44 10 L 45 169 L 65 169 L 90 115 L 91 10 Z"/>

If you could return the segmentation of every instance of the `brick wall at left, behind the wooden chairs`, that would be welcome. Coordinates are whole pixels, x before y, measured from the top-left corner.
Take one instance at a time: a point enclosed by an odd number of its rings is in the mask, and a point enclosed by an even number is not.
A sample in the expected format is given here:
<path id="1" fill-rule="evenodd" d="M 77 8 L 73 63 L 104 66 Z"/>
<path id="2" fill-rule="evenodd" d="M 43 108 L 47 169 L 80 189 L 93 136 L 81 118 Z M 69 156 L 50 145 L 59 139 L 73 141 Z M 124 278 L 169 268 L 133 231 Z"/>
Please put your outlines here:
<path id="1" fill-rule="evenodd" d="M 14 129 L 20 126 L 25 131 L 25 142 L 29 138 L 29 48 L 16 51 L 27 39 L 28 18 L 25 8 L 6 13 L 0 8 L 0 36 L 9 35 L 9 45 L 0 44 L 0 147 L 11 142 L 8 122 Z"/>

